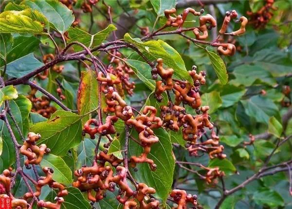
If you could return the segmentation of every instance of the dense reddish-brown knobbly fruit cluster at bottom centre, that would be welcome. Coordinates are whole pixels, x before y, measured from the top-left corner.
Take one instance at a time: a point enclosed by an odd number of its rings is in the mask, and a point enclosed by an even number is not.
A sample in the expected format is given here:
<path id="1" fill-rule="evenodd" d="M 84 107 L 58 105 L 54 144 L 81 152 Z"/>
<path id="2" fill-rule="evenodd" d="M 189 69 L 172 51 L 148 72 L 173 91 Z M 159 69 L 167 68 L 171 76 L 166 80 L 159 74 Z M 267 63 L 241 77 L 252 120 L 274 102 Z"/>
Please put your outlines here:
<path id="1" fill-rule="evenodd" d="M 98 162 L 97 162 L 98 161 Z M 111 166 L 106 166 L 106 162 Z M 158 207 L 159 202 L 150 200 L 145 202 L 145 196 L 155 193 L 153 188 L 148 188 L 145 184 L 139 184 L 137 190 L 133 191 L 127 182 L 127 169 L 120 166 L 122 160 L 119 160 L 112 154 L 100 152 L 91 167 L 82 167 L 74 172 L 77 181 L 73 182 L 73 187 L 81 191 L 87 191 L 88 199 L 92 202 L 98 202 L 105 196 L 106 190 L 114 191 L 119 187 L 117 200 L 125 205 L 124 209 L 136 207 L 137 200 L 141 209 L 154 209 Z M 116 168 L 114 175 L 114 168 Z M 95 192 L 93 195 L 92 192 Z M 150 207 L 151 206 L 151 207 Z"/>

